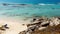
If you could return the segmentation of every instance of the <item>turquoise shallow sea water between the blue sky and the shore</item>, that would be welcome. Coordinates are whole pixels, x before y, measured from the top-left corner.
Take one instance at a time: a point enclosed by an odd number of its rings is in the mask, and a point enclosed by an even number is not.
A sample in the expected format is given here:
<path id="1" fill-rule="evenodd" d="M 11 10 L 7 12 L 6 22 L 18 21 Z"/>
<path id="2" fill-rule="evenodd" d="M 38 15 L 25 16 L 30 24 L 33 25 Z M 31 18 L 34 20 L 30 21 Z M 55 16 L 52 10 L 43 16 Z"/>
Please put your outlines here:
<path id="1" fill-rule="evenodd" d="M 6 17 L 60 16 L 60 4 L 0 6 L 0 16 Z"/>

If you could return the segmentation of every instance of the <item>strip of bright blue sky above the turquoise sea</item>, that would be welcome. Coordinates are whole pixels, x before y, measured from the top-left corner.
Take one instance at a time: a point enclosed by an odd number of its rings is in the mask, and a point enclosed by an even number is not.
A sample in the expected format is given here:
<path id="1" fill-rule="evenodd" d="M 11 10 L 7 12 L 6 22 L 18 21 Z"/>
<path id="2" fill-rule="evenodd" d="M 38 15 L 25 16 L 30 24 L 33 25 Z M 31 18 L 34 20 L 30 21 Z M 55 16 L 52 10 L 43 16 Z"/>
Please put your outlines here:
<path id="1" fill-rule="evenodd" d="M 60 0 L 0 0 L 0 2 L 9 2 L 9 3 L 60 3 Z"/>

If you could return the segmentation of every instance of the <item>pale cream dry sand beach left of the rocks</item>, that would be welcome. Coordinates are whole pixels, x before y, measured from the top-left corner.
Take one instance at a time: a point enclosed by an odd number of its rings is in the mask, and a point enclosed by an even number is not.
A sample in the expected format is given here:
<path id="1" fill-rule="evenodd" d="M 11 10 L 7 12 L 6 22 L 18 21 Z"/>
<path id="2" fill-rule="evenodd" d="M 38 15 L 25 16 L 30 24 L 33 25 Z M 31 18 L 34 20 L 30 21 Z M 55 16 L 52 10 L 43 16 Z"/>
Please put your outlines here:
<path id="1" fill-rule="evenodd" d="M 27 29 L 26 25 L 29 21 L 24 21 L 22 19 L 15 19 L 15 18 L 0 18 L 0 26 L 4 24 L 8 24 L 9 29 L 4 31 L 2 34 L 18 34 L 21 31 Z"/>

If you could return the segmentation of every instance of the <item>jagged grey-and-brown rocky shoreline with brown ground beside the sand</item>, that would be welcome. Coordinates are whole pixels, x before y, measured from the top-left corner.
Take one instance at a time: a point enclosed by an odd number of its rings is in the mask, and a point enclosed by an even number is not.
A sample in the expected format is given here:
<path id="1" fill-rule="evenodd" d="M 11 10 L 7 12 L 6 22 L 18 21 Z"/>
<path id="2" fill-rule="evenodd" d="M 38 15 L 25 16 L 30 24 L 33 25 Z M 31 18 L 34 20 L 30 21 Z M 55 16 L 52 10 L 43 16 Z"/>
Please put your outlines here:
<path id="1" fill-rule="evenodd" d="M 60 34 L 60 18 L 39 17 L 33 18 L 31 22 L 27 24 L 27 30 L 19 34 Z"/>

